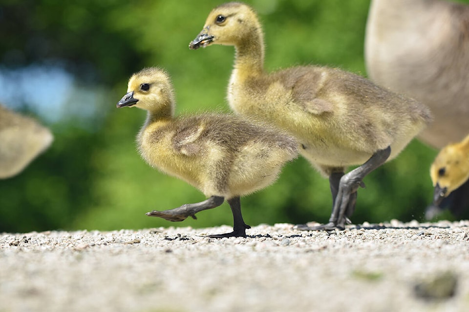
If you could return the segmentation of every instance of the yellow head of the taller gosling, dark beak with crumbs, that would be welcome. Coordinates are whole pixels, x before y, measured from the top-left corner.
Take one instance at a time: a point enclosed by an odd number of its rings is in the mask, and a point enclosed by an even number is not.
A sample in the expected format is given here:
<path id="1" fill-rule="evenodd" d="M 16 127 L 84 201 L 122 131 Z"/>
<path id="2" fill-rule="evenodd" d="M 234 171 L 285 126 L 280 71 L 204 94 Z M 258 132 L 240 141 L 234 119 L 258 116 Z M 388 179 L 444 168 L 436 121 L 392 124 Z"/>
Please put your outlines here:
<path id="1" fill-rule="evenodd" d="M 240 2 L 228 2 L 210 12 L 204 29 L 189 43 L 192 50 L 212 43 L 238 45 L 260 30 L 254 10 Z"/>

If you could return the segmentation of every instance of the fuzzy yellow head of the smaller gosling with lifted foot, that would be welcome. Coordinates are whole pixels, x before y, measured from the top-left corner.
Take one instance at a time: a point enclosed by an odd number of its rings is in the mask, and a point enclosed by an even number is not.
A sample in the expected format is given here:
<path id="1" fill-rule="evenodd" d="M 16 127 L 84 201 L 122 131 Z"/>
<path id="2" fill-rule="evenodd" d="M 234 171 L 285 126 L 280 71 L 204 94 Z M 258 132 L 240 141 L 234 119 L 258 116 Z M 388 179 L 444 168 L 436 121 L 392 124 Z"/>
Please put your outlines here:
<path id="1" fill-rule="evenodd" d="M 174 105 L 174 91 L 171 80 L 165 71 L 144 68 L 128 80 L 127 94 L 117 103 L 117 108 L 138 107 L 150 112 L 169 111 Z"/>

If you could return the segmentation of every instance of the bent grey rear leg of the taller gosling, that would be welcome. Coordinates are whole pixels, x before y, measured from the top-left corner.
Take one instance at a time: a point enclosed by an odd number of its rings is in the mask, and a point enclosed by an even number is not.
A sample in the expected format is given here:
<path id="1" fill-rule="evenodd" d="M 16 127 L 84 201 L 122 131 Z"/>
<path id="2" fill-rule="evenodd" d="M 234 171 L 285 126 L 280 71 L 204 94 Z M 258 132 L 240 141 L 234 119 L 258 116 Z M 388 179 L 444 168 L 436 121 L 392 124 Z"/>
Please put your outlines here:
<path id="1" fill-rule="evenodd" d="M 333 223 L 339 229 L 345 228 L 345 222 L 348 220 L 346 216 L 350 216 L 355 210 L 357 190 L 359 187 L 364 187 L 363 178 L 384 164 L 389 155 L 391 155 L 390 146 L 384 150 L 377 151 L 360 167 L 341 177 L 339 192 L 334 202 L 329 223 Z"/>

